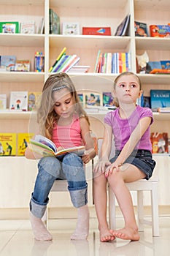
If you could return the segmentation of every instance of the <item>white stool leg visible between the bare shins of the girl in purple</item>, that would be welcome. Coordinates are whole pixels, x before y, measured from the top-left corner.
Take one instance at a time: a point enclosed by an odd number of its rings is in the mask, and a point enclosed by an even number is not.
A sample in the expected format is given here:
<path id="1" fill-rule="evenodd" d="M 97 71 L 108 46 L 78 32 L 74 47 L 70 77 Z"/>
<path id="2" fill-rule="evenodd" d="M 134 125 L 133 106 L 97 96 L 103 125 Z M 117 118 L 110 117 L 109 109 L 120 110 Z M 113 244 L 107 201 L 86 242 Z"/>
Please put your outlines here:
<path id="1" fill-rule="evenodd" d="M 109 227 L 112 230 L 116 228 L 116 206 L 115 206 L 115 195 L 109 187 Z"/>

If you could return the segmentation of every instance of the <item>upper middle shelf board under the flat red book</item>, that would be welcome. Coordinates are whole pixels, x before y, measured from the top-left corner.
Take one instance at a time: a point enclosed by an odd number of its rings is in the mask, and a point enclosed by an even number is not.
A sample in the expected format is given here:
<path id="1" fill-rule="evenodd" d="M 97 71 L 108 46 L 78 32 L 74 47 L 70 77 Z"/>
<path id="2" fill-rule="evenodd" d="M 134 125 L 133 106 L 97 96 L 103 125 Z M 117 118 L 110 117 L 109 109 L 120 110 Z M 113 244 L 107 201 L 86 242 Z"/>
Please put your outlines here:
<path id="1" fill-rule="evenodd" d="M 130 42 L 130 37 L 112 37 L 112 36 L 64 36 L 62 34 L 50 35 L 50 47 L 63 48 L 115 48 L 126 49 Z"/>

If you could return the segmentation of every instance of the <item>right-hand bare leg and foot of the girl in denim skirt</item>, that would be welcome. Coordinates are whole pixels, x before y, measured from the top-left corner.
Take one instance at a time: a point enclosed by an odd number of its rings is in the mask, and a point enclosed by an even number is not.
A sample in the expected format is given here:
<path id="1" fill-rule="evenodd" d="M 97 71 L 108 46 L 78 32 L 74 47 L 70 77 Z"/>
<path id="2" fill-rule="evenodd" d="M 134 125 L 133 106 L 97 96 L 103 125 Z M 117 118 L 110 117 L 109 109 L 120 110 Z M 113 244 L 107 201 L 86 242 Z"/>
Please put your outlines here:
<path id="1" fill-rule="evenodd" d="M 144 173 L 142 173 L 134 165 L 128 166 L 129 167 L 127 167 L 123 171 L 113 172 L 112 175 L 110 175 L 108 178 L 109 184 L 115 193 L 117 202 L 120 206 L 120 210 L 122 211 L 123 217 L 125 219 L 125 227 L 120 230 L 114 230 L 112 233 L 117 238 L 138 241 L 140 236 L 138 233 L 138 227 L 136 225 L 134 206 L 131 198 L 131 193 L 125 186 L 125 181 L 132 182 L 139 180 L 140 178 L 144 178 Z"/>

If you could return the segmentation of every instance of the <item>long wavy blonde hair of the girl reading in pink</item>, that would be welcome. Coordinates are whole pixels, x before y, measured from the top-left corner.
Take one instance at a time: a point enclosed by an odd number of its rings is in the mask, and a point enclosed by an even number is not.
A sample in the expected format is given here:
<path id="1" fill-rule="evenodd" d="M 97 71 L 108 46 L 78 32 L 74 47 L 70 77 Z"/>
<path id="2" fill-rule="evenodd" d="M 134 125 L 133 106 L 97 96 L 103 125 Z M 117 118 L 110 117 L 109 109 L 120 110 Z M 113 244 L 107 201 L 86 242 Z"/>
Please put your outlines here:
<path id="1" fill-rule="evenodd" d="M 58 122 L 59 119 L 59 116 L 54 110 L 55 102 L 53 99 L 53 92 L 57 92 L 63 88 L 66 88 L 72 94 L 74 113 L 76 113 L 79 117 L 84 116 L 89 124 L 88 116 L 85 113 L 85 110 L 82 109 L 77 91 L 71 78 L 69 78 L 69 75 L 66 73 L 56 73 L 54 75 L 50 75 L 42 89 L 41 102 L 37 110 L 37 122 L 40 129 L 39 132 L 49 139 L 52 138 L 53 126 L 56 122 Z"/>

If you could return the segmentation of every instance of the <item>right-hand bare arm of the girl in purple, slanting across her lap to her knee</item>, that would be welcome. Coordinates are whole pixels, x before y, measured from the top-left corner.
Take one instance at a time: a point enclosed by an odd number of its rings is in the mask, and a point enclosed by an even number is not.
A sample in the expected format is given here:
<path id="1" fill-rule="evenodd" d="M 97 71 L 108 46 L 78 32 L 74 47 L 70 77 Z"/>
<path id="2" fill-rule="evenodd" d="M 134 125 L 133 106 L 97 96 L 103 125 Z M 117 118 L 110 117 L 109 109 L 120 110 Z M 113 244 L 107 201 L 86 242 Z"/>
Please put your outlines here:
<path id="1" fill-rule="evenodd" d="M 109 172 L 112 173 L 112 170 L 115 168 L 118 170 L 119 166 L 125 162 L 125 159 L 127 159 L 132 151 L 134 151 L 134 148 L 136 144 L 139 142 L 139 140 L 142 138 L 142 135 L 144 135 L 144 132 L 146 132 L 147 128 L 150 126 L 151 117 L 144 117 L 139 121 L 139 124 L 136 126 L 134 131 L 131 133 L 130 138 L 128 139 L 127 143 L 125 143 L 125 146 L 123 147 L 120 155 L 117 157 L 116 161 L 109 166 L 107 169 Z M 150 138 L 148 138 L 149 140 Z"/>

